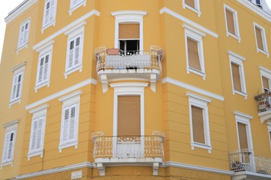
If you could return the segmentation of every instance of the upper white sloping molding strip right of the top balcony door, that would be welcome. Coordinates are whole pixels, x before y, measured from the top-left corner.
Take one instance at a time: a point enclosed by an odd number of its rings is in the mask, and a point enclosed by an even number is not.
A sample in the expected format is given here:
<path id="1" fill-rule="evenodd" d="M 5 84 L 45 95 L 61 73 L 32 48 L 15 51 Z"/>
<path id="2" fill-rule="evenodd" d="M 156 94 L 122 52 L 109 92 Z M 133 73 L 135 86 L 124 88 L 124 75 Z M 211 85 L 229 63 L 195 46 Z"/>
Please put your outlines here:
<path id="1" fill-rule="evenodd" d="M 204 28 L 204 26 L 201 26 L 194 21 L 191 21 L 190 19 L 187 19 L 186 17 L 183 17 L 182 15 L 179 15 L 178 13 L 174 12 L 173 10 L 170 10 L 168 8 L 162 8 L 160 10 L 160 14 L 162 15 L 163 13 L 167 13 L 168 15 L 171 15 L 172 17 L 176 17 L 177 19 L 185 22 L 186 24 L 189 24 L 190 26 L 193 26 L 199 30 L 202 30 L 204 33 L 207 33 L 208 35 L 211 35 L 215 38 L 218 38 L 218 34 L 213 32 L 212 30 L 209 30 L 207 28 Z"/>

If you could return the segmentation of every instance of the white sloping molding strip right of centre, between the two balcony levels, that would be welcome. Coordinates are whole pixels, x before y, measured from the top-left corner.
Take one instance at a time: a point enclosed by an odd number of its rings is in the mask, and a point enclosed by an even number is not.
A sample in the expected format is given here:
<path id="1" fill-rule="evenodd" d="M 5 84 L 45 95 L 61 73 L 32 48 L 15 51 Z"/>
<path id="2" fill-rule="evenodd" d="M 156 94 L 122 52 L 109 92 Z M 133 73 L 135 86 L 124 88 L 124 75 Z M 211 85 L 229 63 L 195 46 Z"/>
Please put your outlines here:
<path id="1" fill-rule="evenodd" d="M 224 101 L 224 97 L 223 97 L 223 96 L 217 95 L 217 94 L 212 93 L 212 92 L 210 92 L 210 91 L 206 91 L 206 90 L 204 90 L 204 89 L 200 89 L 200 88 L 198 88 L 198 87 L 194 87 L 194 86 L 192 86 L 192 85 L 190 85 L 190 84 L 186 84 L 186 83 L 181 82 L 181 81 L 179 81 L 179 80 L 174 80 L 174 79 L 172 79 L 172 78 L 168 78 L 168 77 L 167 77 L 167 78 L 163 78 L 162 83 L 163 83 L 163 84 L 165 84 L 165 83 L 174 84 L 174 85 L 176 85 L 176 86 L 178 86 L 178 87 L 183 87 L 183 88 L 188 89 L 188 90 L 190 90 L 190 91 L 195 91 L 195 92 L 197 92 L 197 93 L 201 93 L 202 95 L 209 96 L 209 97 L 211 97 L 211 98 L 215 98 L 215 99 L 217 99 L 217 100 Z"/>

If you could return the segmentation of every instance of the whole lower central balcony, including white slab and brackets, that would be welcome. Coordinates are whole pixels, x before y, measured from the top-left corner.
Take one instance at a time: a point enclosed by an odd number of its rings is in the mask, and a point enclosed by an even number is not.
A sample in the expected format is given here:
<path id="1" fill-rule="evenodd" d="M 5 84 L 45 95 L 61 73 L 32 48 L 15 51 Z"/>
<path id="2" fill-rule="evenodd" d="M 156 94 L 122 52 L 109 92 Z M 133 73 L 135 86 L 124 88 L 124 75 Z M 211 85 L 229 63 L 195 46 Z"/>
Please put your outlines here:
<path id="1" fill-rule="evenodd" d="M 163 142 L 166 134 L 153 132 L 151 136 L 104 136 L 103 132 L 92 133 L 93 157 L 101 176 L 106 165 L 151 165 L 153 174 L 163 162 Z"/>

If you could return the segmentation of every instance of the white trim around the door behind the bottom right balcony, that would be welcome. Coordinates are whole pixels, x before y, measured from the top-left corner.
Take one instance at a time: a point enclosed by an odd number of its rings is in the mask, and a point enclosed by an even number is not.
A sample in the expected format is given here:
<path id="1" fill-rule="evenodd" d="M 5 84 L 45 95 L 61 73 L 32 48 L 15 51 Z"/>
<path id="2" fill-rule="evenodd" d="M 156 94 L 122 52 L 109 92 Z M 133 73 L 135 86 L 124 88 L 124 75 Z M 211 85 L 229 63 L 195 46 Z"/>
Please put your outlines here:
<path id="1" fill-rule="evenodd" d="M 247 132 L 247 146 L 249 150 L 252 150 L 253 153 L 253 143 L 252 143 L 252 130 L 250 128 L 250 120 L 253 116 L 249 114 L 244 114 L 240 111 L 233 111 L 233 114 L 236 118 L 236 132 L 237 132 L 237 141 L 238 141 L 238 148 L 240 150 L 240 142 L 239 142 L 239 132 L 238 132 L 238 123 L 246 125 L 246 132 Z"/>

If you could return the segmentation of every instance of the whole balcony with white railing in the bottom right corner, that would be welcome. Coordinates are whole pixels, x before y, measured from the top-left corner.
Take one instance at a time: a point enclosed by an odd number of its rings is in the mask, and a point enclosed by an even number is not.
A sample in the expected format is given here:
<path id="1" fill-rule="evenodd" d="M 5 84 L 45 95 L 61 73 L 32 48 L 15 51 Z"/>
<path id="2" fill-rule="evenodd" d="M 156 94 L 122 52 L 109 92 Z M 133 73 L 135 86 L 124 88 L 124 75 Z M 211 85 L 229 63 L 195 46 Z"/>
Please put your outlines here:
<path id="1" fill-rule="evenodd" d="M 229 168 L 234 172 L 232 179 L 271 178 L 271 159 L 256 156 L 253 150 L 229 152 Z"/>

